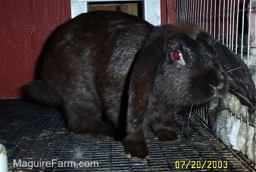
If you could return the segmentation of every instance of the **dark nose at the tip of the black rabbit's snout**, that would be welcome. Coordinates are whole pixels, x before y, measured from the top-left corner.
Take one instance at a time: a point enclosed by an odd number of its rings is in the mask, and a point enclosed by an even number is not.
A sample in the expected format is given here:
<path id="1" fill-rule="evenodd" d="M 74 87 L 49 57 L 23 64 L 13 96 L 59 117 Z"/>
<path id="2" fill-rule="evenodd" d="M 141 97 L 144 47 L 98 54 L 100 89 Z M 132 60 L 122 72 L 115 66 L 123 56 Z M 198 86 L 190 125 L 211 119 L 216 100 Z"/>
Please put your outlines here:
<path id="1" fill-rule="evenodd" d="M 207 83 L 211 85 L 214 89 L 223 89 L 224 87 L 224 76 L 220 71 L 216 71 L 214 69 L 208 71 L 206 74 Z"/>

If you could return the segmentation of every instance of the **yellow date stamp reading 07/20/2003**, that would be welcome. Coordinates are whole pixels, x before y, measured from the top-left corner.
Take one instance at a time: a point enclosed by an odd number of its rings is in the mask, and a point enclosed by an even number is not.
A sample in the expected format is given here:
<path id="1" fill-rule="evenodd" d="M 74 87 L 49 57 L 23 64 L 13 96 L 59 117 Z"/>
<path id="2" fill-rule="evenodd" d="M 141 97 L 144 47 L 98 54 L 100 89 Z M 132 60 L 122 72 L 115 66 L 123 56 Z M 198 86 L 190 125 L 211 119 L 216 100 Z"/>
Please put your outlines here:
<path id="1" fill-rule="evenodd" d="M 175 161 L 176 169 L 227 169 L 227 161 L 196 161 L 196 160 L 177 160 Z"/>

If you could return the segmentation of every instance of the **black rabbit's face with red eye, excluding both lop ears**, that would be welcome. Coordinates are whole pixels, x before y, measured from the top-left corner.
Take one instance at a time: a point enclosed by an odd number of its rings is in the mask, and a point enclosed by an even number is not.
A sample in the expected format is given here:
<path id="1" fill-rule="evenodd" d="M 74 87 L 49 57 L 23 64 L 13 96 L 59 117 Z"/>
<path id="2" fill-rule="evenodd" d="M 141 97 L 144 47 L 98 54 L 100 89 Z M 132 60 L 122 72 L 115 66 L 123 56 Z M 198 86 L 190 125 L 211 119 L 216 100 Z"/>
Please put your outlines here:
<path id="1" fill-rule="evenodd" d="M 201 104 L 228 92 L 228 75 L 216 61 L 214 39 L 195 25 L 173 25 L 164 38 L 156 75 L 161 97 L 176 106 Z"/>

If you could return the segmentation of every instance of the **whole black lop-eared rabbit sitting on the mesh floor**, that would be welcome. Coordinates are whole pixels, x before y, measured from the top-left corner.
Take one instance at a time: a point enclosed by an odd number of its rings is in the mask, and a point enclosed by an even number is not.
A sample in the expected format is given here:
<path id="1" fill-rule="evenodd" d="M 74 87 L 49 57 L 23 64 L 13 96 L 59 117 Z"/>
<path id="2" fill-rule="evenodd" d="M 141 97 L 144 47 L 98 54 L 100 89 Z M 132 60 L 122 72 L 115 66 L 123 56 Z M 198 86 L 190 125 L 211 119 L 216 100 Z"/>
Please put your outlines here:
<path id="1" fill-rule="evenodd" d="M 63 107 L 73 134 L 118 133 L 127 155 L 138 159 L 148 157 L 146 127 L 159 141 L 179 140 L 170 122 L 184 107 L 230 89 L 255 111 L 244 62 L 192 24 L 153 26 L 117 11 L 83 13 L 51 34 L 37 72 L 28 96 Z"/>

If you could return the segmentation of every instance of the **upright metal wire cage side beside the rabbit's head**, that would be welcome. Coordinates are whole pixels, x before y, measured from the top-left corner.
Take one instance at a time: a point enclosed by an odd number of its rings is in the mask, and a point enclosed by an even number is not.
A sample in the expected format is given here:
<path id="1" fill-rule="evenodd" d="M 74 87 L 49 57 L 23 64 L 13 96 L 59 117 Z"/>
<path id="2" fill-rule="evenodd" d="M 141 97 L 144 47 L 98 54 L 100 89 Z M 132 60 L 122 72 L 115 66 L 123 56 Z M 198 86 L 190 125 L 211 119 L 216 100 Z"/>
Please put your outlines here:
<path id="1" fill-rule="evenodd" d="M 255 4 L 246 0 L 177 0 L 177 22 L 199 25 L 233 50 L 248 67 L 254 65 L 252 73 L 253 81 L 256 83 L 256 57 L 252 53 L 256 47 L 250 40 L 251 22 L 255 20 L 252 13 L 255 10 Z M 206 106 L 196 108 L 195 113 L 207 123 L 205 111 Z M 233 113 L 232 115 L 242 120 L 242 117 L 237 117 Z M 248 122 L 248 114 L 246 117 L 246 124 L 255 127 L 255 124 Z"/>

